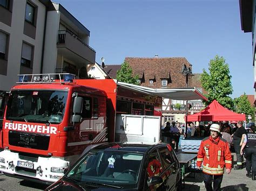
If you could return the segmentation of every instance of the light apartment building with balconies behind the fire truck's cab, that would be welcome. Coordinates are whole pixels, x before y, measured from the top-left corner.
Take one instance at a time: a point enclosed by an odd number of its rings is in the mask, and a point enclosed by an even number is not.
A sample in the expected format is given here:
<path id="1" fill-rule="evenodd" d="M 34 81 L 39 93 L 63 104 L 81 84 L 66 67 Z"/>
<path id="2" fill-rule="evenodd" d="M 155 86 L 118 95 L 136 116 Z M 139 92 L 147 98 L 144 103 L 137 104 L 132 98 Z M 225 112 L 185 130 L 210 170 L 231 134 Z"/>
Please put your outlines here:
<path id="1" fill-rule="evenodd" d="M 0 90 L 18 74 L 86 75 L 95 64 L 90 31 L 62 5 L 49 0 L 0 1 Z"/>

